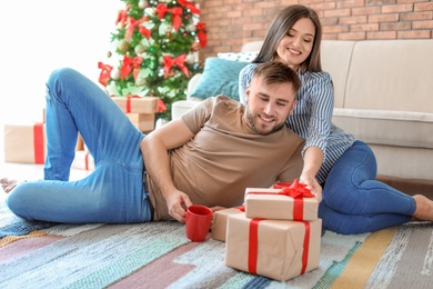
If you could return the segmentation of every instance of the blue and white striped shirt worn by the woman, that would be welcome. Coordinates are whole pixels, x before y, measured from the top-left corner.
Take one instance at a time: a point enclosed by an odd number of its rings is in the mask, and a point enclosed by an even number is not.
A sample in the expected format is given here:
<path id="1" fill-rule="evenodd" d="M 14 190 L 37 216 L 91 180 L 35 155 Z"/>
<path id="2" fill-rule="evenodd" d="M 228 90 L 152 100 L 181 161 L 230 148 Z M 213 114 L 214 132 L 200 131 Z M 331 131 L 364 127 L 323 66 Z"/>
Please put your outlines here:
<path id="1" fill-rule="evenodd" d="M 244 67 L 239 74 L 239 97 L 245 104 L 245 90 L 258 63 Z M 302 153 L 310 147 L 319 147 L 324 155 L 316 179 L 320 183 L 326 177 L 336 160 L 353 144 L 355 138 L 332 123 L 334 89 L 328 72 L 298 71 L 302 87 L 298 92 L 298 103 L 289 116 L 286 124 L 305 139 Z"/>

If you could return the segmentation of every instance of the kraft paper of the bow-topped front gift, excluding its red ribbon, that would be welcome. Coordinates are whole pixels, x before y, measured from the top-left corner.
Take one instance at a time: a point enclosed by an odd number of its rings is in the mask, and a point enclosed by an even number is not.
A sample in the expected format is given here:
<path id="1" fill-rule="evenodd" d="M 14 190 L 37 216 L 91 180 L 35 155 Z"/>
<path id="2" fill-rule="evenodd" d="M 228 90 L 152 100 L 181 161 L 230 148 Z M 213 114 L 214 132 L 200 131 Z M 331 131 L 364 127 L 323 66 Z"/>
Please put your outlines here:
<path id="1" fill-rule="evenodd" d="M 295 200 L 290 196 L 276 195 L 280 189 L 246 188 L 245 213 L 248 218 L 294 220 Z M 250 193 L 254 192 L 254 193 Z M 263 195 L 260 195 L 263 192 Z M 313 221 L 318 219 L 319 202 L 315 198 L 302 199 L 302 218 L 295 220 Z"/>

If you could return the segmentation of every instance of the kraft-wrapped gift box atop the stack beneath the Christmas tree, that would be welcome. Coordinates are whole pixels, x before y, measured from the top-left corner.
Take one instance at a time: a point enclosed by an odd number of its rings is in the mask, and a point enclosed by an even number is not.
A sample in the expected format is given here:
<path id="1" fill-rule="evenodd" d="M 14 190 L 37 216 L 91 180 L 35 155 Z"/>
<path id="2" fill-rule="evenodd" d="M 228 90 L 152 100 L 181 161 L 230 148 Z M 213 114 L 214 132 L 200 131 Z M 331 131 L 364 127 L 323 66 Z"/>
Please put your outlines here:
<path id="1" fill-rule="evenodd" d="M 159 98 L 154 97 L 112 97 L 114 102 L 123 110 L 130 113 L 157 113 Z"/>

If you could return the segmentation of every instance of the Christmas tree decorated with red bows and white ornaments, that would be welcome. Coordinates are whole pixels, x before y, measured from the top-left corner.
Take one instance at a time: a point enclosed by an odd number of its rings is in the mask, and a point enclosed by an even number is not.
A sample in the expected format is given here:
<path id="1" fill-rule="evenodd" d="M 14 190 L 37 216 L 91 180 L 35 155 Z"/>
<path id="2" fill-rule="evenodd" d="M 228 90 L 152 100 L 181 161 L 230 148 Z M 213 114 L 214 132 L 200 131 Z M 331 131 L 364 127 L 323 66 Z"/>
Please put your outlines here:
<path id="1" fill-rule="evenodd" d="M 207 44 L 205 24 L 194 1 L 122 0 L 108 59 L 99 82 L 110 96 L 158 97 L 159 118 L 185 99 L 190 78 L 201 72 L 198 51 Z"/>

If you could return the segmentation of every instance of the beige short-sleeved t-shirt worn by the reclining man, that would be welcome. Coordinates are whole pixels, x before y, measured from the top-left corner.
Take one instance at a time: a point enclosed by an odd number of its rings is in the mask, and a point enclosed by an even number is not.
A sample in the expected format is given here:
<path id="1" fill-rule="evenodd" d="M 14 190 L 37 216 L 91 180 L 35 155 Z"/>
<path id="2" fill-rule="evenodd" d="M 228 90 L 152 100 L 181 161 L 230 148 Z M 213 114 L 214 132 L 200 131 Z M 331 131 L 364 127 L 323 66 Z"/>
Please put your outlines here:
<path id="1" fill-rule="evenodd" d="M 258 134 L 243 114 L 240 102 L 219 96 L 182 116 L 195 136 L 169 151 L 170 168 L 174 186 L 192 203 L 240 206 L 245 188 L 269 188 L 301 175 L 304 140 L 286 127 L 269 136 Z M 151 176 L 148 180 L 153 220 L 172 220 L 161 191 Z"/>

